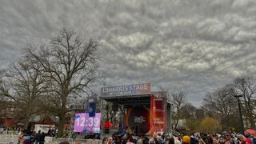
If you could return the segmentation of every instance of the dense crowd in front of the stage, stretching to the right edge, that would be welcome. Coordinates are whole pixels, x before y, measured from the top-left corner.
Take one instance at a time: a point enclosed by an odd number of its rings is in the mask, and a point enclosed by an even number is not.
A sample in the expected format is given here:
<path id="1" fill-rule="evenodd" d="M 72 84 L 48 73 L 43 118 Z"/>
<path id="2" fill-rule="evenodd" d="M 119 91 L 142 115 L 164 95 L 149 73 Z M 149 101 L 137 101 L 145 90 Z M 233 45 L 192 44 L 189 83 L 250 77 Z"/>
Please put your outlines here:
<path id="1" fill-rule="evenodd" d="M 155 134 L 153 137 L 134 134 L 112 135 L 103 138 L 102 144 L 256 144 L 253 134 Z"/>

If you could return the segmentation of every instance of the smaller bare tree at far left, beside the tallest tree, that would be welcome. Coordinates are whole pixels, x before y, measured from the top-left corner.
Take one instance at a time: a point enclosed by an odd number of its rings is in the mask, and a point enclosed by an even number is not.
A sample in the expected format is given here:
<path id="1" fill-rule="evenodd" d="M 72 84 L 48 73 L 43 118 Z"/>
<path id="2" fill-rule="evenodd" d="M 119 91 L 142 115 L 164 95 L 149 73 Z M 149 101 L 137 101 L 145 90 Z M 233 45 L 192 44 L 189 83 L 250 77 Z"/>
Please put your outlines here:
<path id="1" fill-rule="evenodd" d="M 41 110 L 40 97 L 45 87 L 45 79 L 32 65 L 26 59 L 21 59 L 6 70 L 0 83 L 0 94 L 7 103 L 6 107 L 15 109 L 13 116 L 22 120 L 25 129 L 30 117 Z"/>

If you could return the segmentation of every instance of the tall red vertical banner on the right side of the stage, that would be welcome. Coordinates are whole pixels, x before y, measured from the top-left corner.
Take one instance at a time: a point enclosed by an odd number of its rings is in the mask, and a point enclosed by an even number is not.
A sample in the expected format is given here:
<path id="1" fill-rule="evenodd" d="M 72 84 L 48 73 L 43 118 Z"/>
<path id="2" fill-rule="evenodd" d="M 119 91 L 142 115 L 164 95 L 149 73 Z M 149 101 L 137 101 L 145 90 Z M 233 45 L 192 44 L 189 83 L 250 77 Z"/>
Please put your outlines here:
<path id="1" fill-rule="evenodd" d="M 154 92 L 150 98 L 150 134 L 166 132 L 166 93 Z"/>

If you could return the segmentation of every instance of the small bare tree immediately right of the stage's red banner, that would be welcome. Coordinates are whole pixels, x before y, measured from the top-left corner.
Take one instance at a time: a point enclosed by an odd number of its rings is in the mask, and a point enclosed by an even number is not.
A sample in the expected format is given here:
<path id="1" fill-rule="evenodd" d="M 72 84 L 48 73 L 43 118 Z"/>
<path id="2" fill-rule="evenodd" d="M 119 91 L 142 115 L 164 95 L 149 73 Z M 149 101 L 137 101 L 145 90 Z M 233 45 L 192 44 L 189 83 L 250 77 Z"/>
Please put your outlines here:
<path id="1" fill-rule="evenodd" d="M 184 91 L 171 92 L 170 102 L 173 103 L 174 108 L 174 129 L 178 126 L 178 120 L 181 118 L 181 109 L 186 102 L 186 94 Z"/>

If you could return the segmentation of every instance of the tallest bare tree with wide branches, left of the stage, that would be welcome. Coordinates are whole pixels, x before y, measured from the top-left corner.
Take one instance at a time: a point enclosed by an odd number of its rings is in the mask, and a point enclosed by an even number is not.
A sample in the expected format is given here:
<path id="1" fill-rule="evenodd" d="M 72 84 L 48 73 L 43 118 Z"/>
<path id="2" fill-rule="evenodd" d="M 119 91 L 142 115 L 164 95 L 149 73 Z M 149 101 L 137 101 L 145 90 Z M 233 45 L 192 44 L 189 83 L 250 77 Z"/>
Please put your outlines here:
<path id="1" fill-rule="evenodd" d="M 63 29 L 51 39 L 48 48 L 38 52 L 27 50 L 30 58 L 39 62 L 45 76 L 52 80 L 50 87 L 54 99 L 50 106 L 60 118 L 58 137 L 63 134 L 68 99 L 86 93 L 96 78 L 97 46 L 94 39 L 86 40 L 72 30 Z"/>

